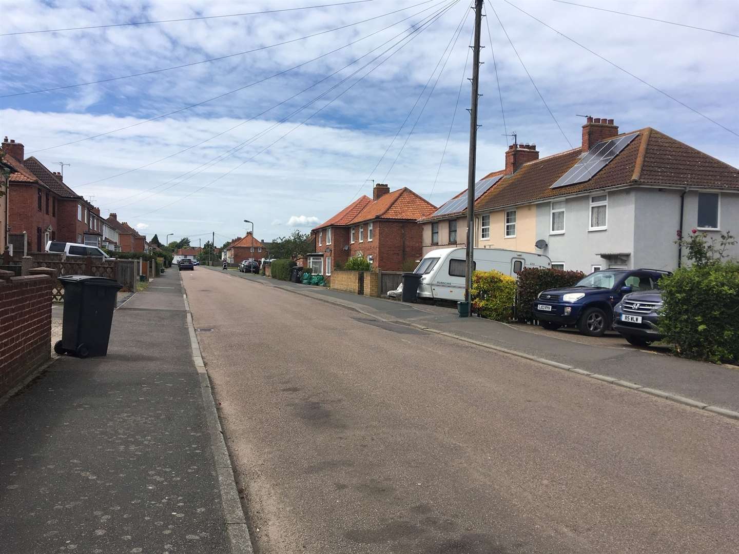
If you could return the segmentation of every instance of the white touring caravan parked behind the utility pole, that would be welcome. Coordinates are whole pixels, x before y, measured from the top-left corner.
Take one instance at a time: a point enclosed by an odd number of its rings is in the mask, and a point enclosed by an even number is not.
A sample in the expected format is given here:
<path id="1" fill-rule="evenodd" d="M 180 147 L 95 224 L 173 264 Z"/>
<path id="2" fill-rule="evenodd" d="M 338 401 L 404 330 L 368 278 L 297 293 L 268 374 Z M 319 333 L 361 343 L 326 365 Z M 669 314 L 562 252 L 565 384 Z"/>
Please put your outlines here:
<path id="1" fill-rule="evenodd" d="M 432 300 L 464 300 L 465 286 L 464 248 L 439 248 L 423 256 L 413 273 L 420 278 L 418 296 Z M 525 267 L 551 267 L 551 260 L 543 254 L 505 250 L 504 248 L 475 248 L 473 271 L 496 270 L 505 275 L 516 277 L 516 273 Z M 403 284 L 388 296 L 400 296 Z"/>

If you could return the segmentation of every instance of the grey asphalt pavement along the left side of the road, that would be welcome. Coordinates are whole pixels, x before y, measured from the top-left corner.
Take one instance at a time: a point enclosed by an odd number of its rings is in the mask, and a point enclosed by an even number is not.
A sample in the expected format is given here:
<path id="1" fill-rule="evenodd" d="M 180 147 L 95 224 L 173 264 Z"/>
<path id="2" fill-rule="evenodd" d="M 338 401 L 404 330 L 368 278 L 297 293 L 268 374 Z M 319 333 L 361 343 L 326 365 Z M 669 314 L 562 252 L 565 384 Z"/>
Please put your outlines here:
<path id="1" fill-rule="evenodd" d="M 168 271 L 0 406 L 0 553 L 231 552 L 186 315 Z"/>

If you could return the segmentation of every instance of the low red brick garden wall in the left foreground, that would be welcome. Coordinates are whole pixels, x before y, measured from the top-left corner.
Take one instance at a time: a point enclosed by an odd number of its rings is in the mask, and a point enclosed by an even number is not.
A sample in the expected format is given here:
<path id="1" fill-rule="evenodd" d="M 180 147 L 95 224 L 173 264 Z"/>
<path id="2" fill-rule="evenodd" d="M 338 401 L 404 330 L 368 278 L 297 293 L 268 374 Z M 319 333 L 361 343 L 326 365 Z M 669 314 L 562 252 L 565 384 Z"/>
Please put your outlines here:
<path id="1" fill-rule="evenodd" d="M 50 358 L 51 290 L 45 275 L 0 281 L 0 396 Z"/>

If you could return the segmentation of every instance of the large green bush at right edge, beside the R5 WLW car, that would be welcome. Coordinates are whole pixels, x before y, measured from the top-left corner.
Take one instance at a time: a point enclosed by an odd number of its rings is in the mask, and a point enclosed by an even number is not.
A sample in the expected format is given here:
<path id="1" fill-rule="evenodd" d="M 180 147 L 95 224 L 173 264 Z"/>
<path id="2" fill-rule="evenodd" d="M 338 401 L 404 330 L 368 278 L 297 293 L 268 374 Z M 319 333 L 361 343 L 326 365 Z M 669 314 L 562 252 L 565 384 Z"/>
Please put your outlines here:
<path id="1" fill-rule="evenodd" d="M 660 330 L 678 355 L 739 361 L 739 263 L 683 267 L 661 278 L 659 286 Z"/>

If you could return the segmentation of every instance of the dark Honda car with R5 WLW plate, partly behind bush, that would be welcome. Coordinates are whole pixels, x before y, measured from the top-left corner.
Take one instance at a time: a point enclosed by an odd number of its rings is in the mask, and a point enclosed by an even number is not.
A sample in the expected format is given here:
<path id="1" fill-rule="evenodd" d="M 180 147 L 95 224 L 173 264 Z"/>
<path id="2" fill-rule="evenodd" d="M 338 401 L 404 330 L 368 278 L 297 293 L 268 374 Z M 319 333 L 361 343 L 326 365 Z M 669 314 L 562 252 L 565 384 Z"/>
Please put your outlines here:
<path id="1" fill-rule="evenodd" d="M 627 294 L 613 307 L 613 329 L 634 346 L 649 346 L 662 339 L 658 329 L 661 309 L 659 290 Z"/>

